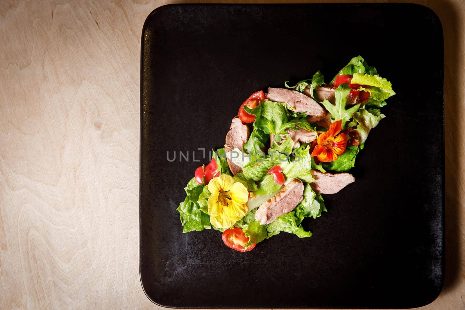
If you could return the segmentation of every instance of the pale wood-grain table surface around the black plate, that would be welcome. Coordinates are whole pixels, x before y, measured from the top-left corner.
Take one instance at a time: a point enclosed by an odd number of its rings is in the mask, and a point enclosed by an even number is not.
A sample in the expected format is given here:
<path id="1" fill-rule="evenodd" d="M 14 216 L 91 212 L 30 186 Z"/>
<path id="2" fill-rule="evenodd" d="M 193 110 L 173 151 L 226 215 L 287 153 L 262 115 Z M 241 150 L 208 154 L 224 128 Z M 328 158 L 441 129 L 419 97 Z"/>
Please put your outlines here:
<path id="1" fill-rule="evenodd" d="M 159 308 L 139 280 L 140 35 L 170 1 L 0 2 L 0 309 Z M 424 309 L 464 309 L 465 1 L 417 3 L 445 40 L 446 280 Z"/>

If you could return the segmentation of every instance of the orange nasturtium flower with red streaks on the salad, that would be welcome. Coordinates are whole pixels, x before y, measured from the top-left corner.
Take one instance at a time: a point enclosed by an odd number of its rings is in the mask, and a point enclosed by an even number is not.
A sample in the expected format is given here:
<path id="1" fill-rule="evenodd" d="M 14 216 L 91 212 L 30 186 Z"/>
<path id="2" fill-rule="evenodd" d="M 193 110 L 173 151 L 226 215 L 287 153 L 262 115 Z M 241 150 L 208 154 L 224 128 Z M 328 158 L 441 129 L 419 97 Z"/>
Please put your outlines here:
<path id="1" fill-rule="evenodd" d="M 342 155 L 347 146 L 347 137 L 341 132 L 342 119 L 332 123 L 327 132 L 323 132 L 318 136 L 317 145 L 313 149 L 312 155 L 317 156 L 319 161 L 333 161 Z"/>

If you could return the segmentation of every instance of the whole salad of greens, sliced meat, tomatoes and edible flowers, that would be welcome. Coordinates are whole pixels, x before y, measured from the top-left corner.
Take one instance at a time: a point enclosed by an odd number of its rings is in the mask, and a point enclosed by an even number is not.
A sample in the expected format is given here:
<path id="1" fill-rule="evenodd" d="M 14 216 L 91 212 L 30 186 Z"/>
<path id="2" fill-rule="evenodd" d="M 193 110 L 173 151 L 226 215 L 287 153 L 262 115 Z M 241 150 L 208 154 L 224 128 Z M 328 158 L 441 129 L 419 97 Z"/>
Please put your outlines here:
<path id="1" fill-rule="evenodd" d="M 281 231 L 312 236 L 305 218 L 326 212 L 322 194 L 355 181 L 349 171 L 392 85 L 361 57 L 327 84 L 321 72 L 285 88 L 254 92 L 239 108 L 224 148 L 187 183 L 183 232 L 214 229 L 237 251 Z"/>

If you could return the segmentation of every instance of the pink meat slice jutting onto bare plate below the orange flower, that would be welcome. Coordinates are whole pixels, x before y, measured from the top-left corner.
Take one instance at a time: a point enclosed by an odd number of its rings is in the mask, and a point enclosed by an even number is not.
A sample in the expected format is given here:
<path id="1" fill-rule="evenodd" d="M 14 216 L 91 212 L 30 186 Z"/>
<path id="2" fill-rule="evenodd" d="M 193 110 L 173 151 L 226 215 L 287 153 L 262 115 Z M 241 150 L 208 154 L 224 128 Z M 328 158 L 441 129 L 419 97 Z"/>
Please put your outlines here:
<path id="1" fill-rule="evenodd" d="M 320 194 L 335 194 L 345 186 L 355 182 L 352 174 L 347 172 L 332 174 L 312 170 L 312 177 L 315 179 L 315 182 L 310 183 L 310 186 L 313 191 Z"/>

